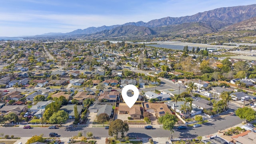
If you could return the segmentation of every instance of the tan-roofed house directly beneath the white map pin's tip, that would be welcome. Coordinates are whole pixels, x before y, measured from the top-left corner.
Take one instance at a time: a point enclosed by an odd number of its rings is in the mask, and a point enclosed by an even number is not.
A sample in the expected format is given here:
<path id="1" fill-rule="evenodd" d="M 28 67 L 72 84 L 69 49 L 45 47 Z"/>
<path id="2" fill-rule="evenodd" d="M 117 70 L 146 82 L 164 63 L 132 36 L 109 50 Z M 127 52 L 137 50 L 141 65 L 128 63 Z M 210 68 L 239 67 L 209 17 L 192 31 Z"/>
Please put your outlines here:
<path id="1" fill-rule="evenodd" d="M 140 119 L 142 116 L 140 105 L 134 104 L 131 108 L 129 108 L 125 103 L 119 104 L 118 114 L 129 114 L 133 119 Z"/>

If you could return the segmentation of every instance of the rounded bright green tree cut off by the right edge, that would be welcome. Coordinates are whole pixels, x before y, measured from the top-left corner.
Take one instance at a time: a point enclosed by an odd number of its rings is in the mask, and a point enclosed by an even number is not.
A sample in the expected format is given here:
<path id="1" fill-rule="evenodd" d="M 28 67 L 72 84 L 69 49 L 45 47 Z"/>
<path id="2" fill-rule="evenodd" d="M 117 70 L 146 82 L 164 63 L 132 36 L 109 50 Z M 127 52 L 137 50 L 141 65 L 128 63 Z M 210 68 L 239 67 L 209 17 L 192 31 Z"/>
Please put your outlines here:
<path id="1" fill-rule="evenodd" d="M 256 111 L 254 111 L 252 108 L 238 108 L 235 112 L 236 115 L 242 120 L 245 119 L 246 121 L 251 122 L 252 120 L 256 119 Z"/>

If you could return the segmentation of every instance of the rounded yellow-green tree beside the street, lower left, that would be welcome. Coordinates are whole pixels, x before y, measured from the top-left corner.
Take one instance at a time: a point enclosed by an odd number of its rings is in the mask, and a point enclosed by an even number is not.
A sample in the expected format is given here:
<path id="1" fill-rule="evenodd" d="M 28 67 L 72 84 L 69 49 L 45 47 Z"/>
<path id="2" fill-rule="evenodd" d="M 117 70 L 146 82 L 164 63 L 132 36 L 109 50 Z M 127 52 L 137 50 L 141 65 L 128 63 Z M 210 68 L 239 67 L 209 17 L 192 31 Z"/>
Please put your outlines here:
<path id="1" fill-rule="evenodd" d="M 59 110 L 58 112 L 54 112 L 52 116 L 49 118 L 50 124 L 62 124 L 66 122 L 68 119 L 68 113 L 64 110 Z"/>

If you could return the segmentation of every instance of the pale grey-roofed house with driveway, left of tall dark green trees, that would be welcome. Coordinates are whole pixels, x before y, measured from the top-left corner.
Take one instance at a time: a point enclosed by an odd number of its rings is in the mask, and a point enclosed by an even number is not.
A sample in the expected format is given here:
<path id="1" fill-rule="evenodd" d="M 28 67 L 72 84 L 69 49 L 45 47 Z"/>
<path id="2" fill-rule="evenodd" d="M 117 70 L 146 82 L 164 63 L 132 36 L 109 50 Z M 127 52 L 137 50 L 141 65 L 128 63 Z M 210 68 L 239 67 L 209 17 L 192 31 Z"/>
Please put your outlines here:
<path id="1" fill-rule="evenodd" d="M 45 107 L 48 104 L 51 104 L 52 102 L 52 100 L 37 102 L 34 106 L 28 109 L 28 111 L 30 111 L 33 116 L 36 116 L 37 118 L 42 118 L 42 114 L 44 114 Z"/>

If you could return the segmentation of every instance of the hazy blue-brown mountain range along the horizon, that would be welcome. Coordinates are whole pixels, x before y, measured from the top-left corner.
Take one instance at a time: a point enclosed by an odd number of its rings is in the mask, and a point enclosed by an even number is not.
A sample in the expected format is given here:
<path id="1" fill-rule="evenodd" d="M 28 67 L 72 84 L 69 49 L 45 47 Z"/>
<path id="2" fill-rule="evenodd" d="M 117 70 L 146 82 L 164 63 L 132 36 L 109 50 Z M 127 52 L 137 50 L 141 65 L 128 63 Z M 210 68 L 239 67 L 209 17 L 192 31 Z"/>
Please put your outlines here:
<path id="1" fill-rule="evenodd" d="M 153 38 L 156 36 L 202 35 L 223 30 L 242 30 L 256 27 L 256 4 L 217 8 L 179 18 L 160 18 L 149 22 L 129 22 L 122 25 L 89 27 L 68 33 L 48 33 L 32 38 L 123 39 Z M 248 25 L 247 25 L 248 24 Z M 31 38 L 31 37 L 30 37 Z"/>

